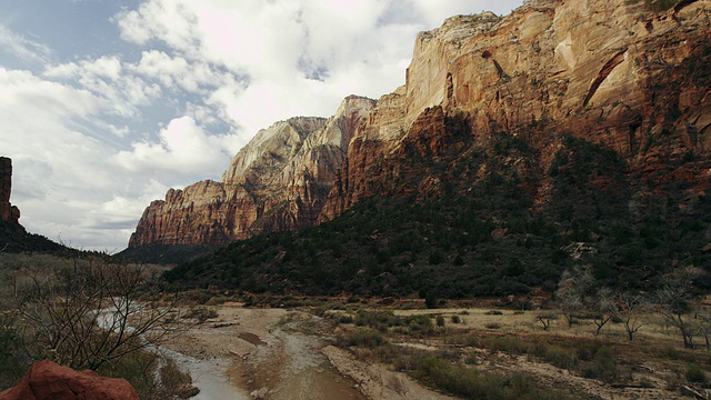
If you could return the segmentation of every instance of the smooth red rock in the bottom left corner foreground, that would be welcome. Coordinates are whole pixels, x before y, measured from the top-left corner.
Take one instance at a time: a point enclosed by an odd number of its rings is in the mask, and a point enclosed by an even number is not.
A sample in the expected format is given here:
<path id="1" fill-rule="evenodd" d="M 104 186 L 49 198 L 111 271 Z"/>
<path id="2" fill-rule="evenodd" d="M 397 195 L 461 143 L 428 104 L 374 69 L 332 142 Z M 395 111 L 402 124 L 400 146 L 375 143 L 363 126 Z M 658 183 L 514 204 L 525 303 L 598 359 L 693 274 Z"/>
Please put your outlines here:
<path id="1" fill-rule="evenodd" d="M 124 379 L 102 378 L 96 372 L 74 371 L 49 360 L 34 363 L 14 388 L 0 392 L 0 400 L 138 400 Z"/>

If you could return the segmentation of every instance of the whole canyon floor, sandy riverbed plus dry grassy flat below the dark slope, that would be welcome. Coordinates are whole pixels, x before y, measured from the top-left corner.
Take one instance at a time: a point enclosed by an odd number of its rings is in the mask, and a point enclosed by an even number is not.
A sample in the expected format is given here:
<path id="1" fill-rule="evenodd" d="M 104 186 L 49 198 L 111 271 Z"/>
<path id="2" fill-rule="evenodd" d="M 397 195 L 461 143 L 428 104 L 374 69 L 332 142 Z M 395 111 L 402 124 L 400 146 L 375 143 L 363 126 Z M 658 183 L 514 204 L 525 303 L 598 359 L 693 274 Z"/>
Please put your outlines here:
<path id="1" fill-rule="evenodd" d="M 709 360 L 705 352 L 680 348 L 674 332 L 655 324 L 652 314 L 629 341 L 619 323 L 600 337 L 588 320 L 573 327 L 554 320 L 543 330 L 537 311 L 320 300 L 302 301 L 299 309 L 309 312 L 237 302 L 200 306 L 210 318 L 167 346 L 213 362 L 222 371 L 219 378 L 242 393 L 236 398 L 278 400 L 452 399 L 415 376 L 452 392 L 461 389 L 447 384 L 465 376 L 470 383 L 494 382 L 487 391 L 683 399 L 691 383 L 684 371 Z M 434 380 L 441 376 L 449 378 Z M 200 388 L 200 377 L 196 383 Z M 513 383 L 520 384 L 508 387 Z"/>

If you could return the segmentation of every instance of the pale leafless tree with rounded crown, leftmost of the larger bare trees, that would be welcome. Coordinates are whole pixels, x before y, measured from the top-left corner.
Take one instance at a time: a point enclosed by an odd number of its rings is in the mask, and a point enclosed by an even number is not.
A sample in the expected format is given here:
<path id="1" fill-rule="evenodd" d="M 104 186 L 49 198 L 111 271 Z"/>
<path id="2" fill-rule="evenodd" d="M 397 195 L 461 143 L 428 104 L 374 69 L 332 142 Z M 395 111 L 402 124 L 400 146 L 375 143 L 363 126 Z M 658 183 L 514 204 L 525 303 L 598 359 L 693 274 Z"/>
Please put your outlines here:
<path id="1" fill-rule="evenodd" d="M 585 297 L 594 283 L 590 267 L 575 266 L 572 270 L 565 270 L 561 274 L 555 303 L 568 321 L 568 328 L 574 322 L 574 316 L 585 308 Z"/>

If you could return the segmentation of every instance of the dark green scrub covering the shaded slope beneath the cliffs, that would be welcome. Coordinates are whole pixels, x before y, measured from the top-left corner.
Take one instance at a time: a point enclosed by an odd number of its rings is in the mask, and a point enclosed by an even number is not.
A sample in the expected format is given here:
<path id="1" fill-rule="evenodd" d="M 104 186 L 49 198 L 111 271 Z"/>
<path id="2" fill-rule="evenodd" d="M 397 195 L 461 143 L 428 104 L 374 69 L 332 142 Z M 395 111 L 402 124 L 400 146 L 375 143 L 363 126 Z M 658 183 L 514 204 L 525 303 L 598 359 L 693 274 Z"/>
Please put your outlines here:
<path id="1" fill-rule="evenodd" d="M 591 266 L 607 286 L 640 290 L 674 266 L 711 270 L 702 250 L 711 241 L 709 191 L 642 179 L 617 152 L 573 137 L 547 171 L 525 141 L 492 141 L 405 160 L 397 184 L 435 182 L 427 190 L 234 242 L 164 278 L 183 289 L 454 299 L 553 291 L 574 264 Z"/>

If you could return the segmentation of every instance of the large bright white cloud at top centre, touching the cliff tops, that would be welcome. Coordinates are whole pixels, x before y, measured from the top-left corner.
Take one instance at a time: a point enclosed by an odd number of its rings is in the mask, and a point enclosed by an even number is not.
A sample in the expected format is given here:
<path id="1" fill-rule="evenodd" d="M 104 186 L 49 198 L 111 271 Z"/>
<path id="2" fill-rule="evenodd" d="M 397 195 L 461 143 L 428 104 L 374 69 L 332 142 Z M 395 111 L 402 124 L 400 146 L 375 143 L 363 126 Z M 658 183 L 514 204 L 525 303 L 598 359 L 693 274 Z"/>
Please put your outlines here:
<path id="1" fill-rule="evenodd" d="M 418 31 L 518 2 L 149 0 L 114 22 L 124 40 L 167 48 L 144 51 L 138 73 L 203 94 L 218 118 L 252 136 L 296 114 L 328 116 L 351 93 L 394 90 Z"/>

